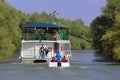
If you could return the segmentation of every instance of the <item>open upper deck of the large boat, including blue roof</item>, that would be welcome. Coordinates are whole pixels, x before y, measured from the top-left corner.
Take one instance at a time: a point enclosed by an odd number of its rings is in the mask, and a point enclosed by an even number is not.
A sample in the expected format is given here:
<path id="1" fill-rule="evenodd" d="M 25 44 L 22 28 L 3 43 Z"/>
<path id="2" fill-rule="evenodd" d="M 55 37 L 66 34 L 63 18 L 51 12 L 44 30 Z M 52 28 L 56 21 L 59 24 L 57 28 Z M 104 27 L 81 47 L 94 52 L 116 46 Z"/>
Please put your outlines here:
<path id="1" fill-rule="evenodd" d="M 68 40 L 68 28 L 49 23 L 32 23 L 23 26 L 24 40 Z"/>

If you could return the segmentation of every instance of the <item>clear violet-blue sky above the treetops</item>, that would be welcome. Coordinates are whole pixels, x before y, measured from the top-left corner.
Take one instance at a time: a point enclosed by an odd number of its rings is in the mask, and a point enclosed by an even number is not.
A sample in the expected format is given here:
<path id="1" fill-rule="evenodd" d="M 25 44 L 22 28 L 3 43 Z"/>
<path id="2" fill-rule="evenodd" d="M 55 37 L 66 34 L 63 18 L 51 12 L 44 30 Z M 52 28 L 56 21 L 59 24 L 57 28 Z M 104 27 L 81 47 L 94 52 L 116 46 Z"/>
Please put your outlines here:
<path id="1" fill-rule="evenodd" d="M 9 5 L 24 13 L 59 13 L 57 17 L 69 20 L 82 19 L 85 25 L 102 14 L 106 0 L 5 0 Z"/>

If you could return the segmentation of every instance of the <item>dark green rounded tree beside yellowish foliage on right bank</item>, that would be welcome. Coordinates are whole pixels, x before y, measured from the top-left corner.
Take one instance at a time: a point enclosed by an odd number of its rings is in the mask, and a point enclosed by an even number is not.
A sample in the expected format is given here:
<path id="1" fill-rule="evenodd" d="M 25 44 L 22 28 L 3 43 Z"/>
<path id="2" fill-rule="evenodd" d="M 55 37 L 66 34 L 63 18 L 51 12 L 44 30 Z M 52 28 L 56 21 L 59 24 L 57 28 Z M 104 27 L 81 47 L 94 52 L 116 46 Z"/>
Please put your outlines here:
<path id="1" fill-rule="evenodd" d="M 111 28 L 112 24 L 113 20 L 106 16 L 100 16 L 93 20 L 91 23 L 91 30 L 93 34 L 93 46 L 95 49 L 103 50 L 100 39 L 102 35 Z"/>

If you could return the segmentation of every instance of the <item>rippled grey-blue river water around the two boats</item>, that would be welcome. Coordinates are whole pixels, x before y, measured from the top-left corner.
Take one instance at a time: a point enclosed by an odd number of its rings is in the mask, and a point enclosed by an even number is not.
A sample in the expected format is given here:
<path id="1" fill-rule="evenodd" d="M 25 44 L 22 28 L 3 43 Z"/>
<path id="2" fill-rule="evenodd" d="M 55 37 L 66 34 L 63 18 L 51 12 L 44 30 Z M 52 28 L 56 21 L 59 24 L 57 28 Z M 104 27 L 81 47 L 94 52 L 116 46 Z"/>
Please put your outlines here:
<path id="1" fill-rule="evenodd" d="M 49 68 L 47 64 L 0 64 L 0 80 L 120 80 L 120 65 L 97 62 L 94 50 L 73 50 L 71 67 Z"/>

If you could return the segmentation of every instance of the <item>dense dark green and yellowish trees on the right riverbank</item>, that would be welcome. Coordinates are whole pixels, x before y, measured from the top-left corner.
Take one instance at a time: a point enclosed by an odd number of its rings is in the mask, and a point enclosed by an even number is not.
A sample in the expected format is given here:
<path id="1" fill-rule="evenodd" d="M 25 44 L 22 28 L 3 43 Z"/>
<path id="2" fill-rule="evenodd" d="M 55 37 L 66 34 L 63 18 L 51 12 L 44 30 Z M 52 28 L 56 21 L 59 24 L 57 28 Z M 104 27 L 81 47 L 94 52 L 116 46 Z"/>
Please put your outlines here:
<path id="1" fill-rule="evenodd" d="M 94 48 L 105 56 L 120 60 L 120 0 L 107 0 L 103 14 L 91 24 Z"/>

